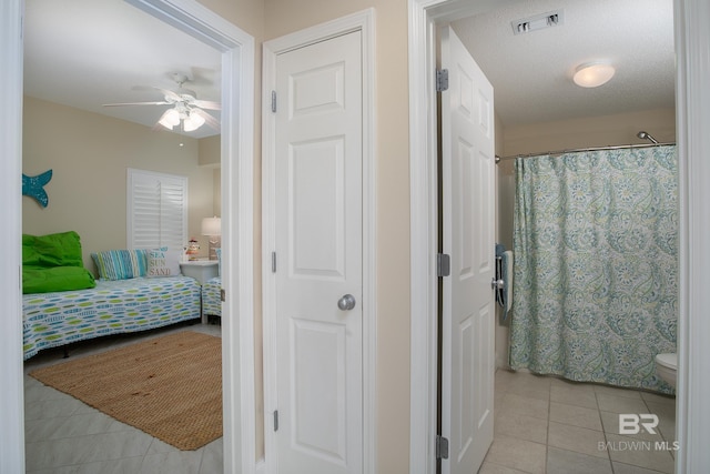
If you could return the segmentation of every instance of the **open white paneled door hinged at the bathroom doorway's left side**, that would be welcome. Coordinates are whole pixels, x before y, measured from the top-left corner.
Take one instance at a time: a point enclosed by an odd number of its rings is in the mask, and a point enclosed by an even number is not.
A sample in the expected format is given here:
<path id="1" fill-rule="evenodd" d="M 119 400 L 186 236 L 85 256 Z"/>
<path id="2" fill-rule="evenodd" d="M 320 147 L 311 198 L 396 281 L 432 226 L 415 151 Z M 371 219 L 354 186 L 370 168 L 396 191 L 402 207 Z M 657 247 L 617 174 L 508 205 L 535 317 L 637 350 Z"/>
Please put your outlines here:
<path id="1" fill-rule="evenodd" d="M 493 442 L 495 148 L 493 87 L 454 31 L 442 29 L 442 435 L 445 474 L 478 471 Z"/>

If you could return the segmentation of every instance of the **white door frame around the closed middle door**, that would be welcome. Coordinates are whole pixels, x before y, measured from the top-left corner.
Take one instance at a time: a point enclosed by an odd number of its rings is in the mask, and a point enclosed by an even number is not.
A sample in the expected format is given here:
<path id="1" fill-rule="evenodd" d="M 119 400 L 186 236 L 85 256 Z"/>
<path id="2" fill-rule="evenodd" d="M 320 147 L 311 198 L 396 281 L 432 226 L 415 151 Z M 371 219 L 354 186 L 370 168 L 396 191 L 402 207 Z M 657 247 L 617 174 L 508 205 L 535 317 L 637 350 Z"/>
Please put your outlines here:
<path id="1" fill-rule="evenodd" d="M 264 437 L 265 471 L 276 472 L 276 446 L 272 420 L 266 413 L 276 405 L 276 300 L 271 252 L 275 249 L 275 115 L 271 111 L 271 91 L 276 83 L 276 57 L 281 53 L 327 40 L 352 31 L 362 32 L 363 52 L 363 472 L 377 472 L 376 456 L 376 286 L 375 286 L 375 10 L 322 23 L 264 43 L 262 87 L 262 206 L 263 206 L 263 314 L 264 314 Z"/>

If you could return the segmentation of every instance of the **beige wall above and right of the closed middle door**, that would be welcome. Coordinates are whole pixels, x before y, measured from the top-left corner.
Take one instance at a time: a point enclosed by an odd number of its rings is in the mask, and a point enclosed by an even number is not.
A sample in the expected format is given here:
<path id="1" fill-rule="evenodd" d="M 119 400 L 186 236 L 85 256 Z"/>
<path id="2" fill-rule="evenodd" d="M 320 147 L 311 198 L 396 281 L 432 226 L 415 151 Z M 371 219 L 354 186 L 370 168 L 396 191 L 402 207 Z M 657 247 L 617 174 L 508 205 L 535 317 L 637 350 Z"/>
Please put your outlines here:
<path id="1" fill-rule="evenodd" d="M 268 0 L 265 39 L 375 7 L 377 471 L 409 471 L 409 148 L 406 0 Z"/>

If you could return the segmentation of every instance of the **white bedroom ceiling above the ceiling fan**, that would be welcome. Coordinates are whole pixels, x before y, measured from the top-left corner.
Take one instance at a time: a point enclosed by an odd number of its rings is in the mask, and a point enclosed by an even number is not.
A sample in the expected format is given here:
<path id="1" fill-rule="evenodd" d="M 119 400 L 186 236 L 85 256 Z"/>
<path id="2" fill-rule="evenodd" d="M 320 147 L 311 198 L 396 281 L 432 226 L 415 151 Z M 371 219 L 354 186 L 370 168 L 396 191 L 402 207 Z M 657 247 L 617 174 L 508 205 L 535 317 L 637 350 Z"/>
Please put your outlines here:
<path id="1" fill-rule="evenodd" d="M 220 102 L 221 54 L 123 0 L 26 1 L 27 95 L 153 127 L 169 105 L 102 104 L 162 101 L 150 88 L 174 90 L 175 72 L 197 99 Z M 217 133 L 205 124 L 184 134 Z"/>

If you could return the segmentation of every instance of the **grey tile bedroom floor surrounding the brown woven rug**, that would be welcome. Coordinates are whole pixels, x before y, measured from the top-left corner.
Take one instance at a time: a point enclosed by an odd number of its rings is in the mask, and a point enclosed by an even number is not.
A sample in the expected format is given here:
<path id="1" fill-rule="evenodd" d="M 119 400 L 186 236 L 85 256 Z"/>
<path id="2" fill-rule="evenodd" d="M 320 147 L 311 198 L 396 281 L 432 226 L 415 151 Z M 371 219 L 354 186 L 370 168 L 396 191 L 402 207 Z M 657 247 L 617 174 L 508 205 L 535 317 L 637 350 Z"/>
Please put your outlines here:
<path id="1" fill-rule="evenodd" d="M 102 352 L 175 331 L 221 335 L 219 325 L 179 325 L 82 343 L 71 351 L 71 356 Z M 222 473 L 222 438 L 196 451 L 180 451 L 28 375 L 33 369 L 63 361 L 62 352 L 59 350 L 38 354 L 24 364 L 27 473 Z"/>

